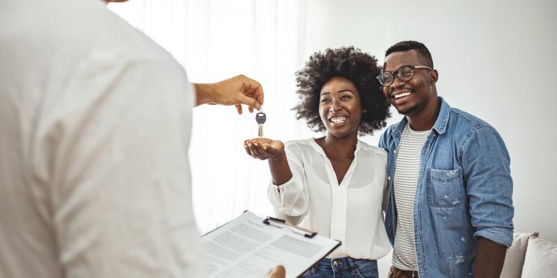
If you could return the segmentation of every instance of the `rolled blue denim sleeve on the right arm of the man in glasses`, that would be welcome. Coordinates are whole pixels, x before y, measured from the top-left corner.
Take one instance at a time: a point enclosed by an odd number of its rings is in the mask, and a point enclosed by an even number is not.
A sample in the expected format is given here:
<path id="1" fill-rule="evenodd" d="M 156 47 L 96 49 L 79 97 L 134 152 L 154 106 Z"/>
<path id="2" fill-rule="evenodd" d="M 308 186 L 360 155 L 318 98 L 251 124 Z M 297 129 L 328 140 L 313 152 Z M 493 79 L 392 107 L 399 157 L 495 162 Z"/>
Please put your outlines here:
<path id="1" fill-rule="evenodd" d="M 512 178 L 510 157 L 499 133 L 491 126 L 472 131 L 462 149 L 474 236 L 505 247 L 512 243 Z"/>

